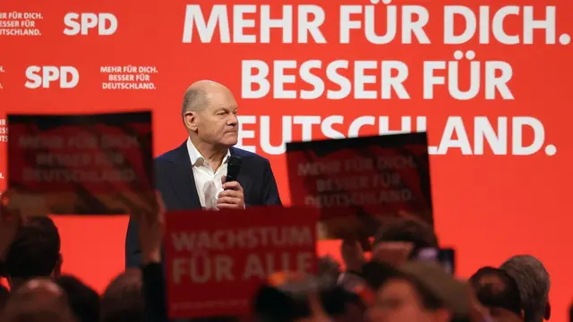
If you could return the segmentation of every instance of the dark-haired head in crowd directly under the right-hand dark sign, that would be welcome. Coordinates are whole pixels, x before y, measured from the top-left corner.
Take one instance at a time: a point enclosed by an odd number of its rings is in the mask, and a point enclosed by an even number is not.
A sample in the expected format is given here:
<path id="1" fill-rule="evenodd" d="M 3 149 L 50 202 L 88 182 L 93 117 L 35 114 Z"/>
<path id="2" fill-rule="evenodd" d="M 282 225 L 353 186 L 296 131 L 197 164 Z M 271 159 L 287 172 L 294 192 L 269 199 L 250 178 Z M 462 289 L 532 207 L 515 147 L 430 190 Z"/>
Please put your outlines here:
<path id="1" fill-rule="evenodd" d="M 399 216 L 382 222 L 374 236 L 372 258 L 398 266 L 418 250 L 438 247 L 432 225 L 415 216 Z"/>

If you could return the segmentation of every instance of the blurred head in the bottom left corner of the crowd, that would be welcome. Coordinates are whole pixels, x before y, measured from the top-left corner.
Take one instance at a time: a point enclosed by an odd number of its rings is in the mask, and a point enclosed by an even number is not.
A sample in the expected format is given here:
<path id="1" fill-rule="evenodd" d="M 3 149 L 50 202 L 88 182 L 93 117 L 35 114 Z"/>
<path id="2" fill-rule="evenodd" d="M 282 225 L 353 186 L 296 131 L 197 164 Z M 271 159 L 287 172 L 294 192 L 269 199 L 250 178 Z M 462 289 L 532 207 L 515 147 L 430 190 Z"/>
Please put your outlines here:
<path id="1" fill-rule="evenodd" d="M 30 279 L 11 293 L 3 322 L 76 322 L 64 290 L 49 279 Z"/>

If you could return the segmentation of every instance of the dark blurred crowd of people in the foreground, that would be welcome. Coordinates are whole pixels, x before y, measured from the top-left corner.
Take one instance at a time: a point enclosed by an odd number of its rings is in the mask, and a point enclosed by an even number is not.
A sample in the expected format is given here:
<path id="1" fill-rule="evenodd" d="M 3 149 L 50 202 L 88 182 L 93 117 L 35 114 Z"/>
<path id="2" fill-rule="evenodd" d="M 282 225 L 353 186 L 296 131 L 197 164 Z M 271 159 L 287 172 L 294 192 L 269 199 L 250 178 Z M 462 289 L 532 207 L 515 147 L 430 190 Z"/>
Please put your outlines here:
<path id="1" fill-rule="evenodd" d="M 100 296 L 62 275 L 60 236 L 48 216 L 0 215 L 0 321 L 168 321 L 161 242 L 165 212 L 138 222 L 141 268 L 128 268 Z M 550 275 L 529 255 L 500 267 L 482 267 L 467 281 L 438 263 L 416 260 L 417 250 L 439 248 L 432 226 L 414 217 L 383 225 L 371 256 L 344 241 L 344 263 L 320 258 L 317 275 L 277 272 L 252 297 L 252 316 L 199 321 L 525 321 L 551 318 Z M 341 267 L 344 267 L 342 269 Z M 193 290 L 189 290 L 193 292 Z"/>

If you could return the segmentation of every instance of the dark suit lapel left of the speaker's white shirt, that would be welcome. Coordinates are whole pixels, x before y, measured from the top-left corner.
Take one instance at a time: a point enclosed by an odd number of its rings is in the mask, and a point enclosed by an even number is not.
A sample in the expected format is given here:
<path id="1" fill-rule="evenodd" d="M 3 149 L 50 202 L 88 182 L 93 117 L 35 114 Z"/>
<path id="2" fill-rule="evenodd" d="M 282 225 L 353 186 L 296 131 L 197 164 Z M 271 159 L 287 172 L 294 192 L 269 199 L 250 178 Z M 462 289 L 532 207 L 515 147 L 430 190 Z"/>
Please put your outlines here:
<path id="1" fill-rule="evenodd" d="M 195 180 L 186 141 L 179 148 L 175 149 L 174 171 L 170 171 L 173 190 L 180 200 L 182 208 L 201 208 L 201 201 L 197 194 Z"/>

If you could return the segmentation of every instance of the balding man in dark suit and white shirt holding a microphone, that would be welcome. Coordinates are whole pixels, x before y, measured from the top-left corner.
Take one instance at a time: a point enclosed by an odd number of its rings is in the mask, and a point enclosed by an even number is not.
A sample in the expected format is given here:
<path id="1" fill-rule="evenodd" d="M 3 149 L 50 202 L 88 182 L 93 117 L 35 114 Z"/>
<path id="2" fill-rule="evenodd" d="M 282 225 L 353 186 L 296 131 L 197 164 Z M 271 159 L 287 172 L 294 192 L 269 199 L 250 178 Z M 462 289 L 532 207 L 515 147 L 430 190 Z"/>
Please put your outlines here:
<path id="1" fill-rule="evenodd" d="M 231 91 L 217 82 L 200 80 L 187 89 L 181 114 L 189 138 L 155 159 L 155 184 L 167 210 L 281 205 L 269 160 L 233 148 L 237 108 Z M 236 182 L 225 182 L 231 156 L 242 158 L 241 171 Z M 130 220 L 125 266 L 140 265 L 137 225 Z"/>

